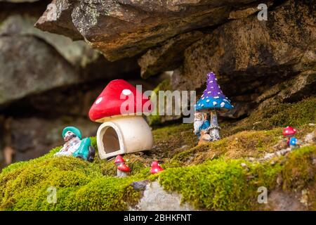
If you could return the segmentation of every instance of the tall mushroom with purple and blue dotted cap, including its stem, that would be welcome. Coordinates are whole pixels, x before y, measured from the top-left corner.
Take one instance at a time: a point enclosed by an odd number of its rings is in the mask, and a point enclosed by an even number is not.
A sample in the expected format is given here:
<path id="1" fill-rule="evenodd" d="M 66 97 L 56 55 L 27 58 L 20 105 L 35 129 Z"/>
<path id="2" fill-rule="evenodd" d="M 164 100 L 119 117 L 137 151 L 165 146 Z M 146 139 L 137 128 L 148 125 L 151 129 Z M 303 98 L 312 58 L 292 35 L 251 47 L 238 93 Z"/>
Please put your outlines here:
<path id="1" fill-rule="evenodd" d="M 228 98 L 223 94 L 223 91 L 220 90 L 215 74 L 209 72 L 207 74 L 206 89 L 199 101 L 197 101 L 195 110 L 210 114 L 209 135 L 211 136 L 211 141 L 220 139 L 217 112 L 219 110 L 230 110 L 233 107 Z"/>

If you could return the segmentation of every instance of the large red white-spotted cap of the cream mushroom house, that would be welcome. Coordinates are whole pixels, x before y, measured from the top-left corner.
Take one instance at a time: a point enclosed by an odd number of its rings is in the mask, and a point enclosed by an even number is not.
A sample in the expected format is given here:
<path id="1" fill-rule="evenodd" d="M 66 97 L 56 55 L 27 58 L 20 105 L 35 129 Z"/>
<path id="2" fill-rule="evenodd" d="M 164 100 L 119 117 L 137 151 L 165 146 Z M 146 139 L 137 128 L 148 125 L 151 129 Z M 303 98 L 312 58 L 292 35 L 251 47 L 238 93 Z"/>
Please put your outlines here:
<path id="1" fill-rule="evenodd" d="M 132 98 L 133 97 L 133 98 Z M 124 99 L 121 99 L 124 98 Z M 124 108 L 129 113 L 121 113 L 121 105 L 126 100 L 131 101 L 129 105 Z M 143 105 L 150 105 L 143 107 Z M 145 109 L 143 109 L 145 108 Z M 89 111 L 90 120 L 96 122 L 103 122 L 106 117 L 113 117 L 117 115 L 135 115 L 136 113 L 150 113 L 152 110 L 152 102 L 145 98 L 138 89 L 124 79 L 114 79 L 105 86 L 100 96 L 96 99 Z M 102 120 L 103 119 L 103 120 Z"/>

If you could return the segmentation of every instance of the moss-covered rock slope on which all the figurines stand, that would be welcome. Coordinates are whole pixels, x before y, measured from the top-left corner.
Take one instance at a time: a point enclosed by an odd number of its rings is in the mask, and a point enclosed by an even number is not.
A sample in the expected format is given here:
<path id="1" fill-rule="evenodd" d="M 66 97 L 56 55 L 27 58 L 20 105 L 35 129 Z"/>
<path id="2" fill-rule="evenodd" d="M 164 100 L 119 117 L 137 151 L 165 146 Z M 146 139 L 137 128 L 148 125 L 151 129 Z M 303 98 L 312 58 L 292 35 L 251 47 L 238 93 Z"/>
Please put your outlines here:
<path id="1" fill-rule="evenodd" d="M 275 146 L 283 141 L 282 129 L 287 122 L 297 128 L 298 139 L 315 130 L 315 126 L 309 124 L 315 122 L 314 103 L 315 98 L 307 98 L 286 107 L 281 105 L 275 113 L 262 112 L 260 118 L 251 115 L 245 119 L 248 122 L 260 119 L 264 127 L 253 129 L 245 121 L 224 123 L 223 139 L 201 146 L 196 146 L 192 124 L 155 129 L 151 151 L 124 156 L 131 167 L 131 174 L 126 178 L 115 176 L 114 160 L 97 157 L 90 163 L 78 158 L 55 157 L 53 154 L 60 147 L 54 148 L 41 158 L 3 169 L 0 209 L 128 210 L 142 196 L 131 183 L 158 179 L 166 190 L 177 191 L 183 201 L 198 209 L 265 209 L 257 202 L 258 187 L 265 186 L 269 192 L 279 188 L 289 195 L 303 192 L 308 199 L 305 208 L 315 210 L 315 143 L 285 156 L 262 160 L 265 153 L 278 150 Z M 296 113 L 297 108 L 303 116 Z M 281 118 L 285 119 L 281 121 Z M 97 149 L 96 138 L 92 137 L 91 143 Z M 164 172 L 150 175 L 153 160 L 162 162 Z M 47 201 L 50 187 L 56 188 L 56 204 Z"/>

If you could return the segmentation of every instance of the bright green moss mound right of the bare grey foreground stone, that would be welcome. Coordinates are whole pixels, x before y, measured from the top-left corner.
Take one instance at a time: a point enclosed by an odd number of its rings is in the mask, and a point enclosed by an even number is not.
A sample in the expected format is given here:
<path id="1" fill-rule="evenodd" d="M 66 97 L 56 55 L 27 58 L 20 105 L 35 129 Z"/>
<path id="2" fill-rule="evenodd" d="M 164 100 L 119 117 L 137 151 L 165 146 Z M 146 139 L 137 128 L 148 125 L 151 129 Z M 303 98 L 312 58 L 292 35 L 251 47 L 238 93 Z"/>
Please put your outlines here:
<path id="1" fill-rule="evenodd" d="M 269 191 L 276 188 L 277 177 L 283 175 L 287 179 L 288 173 L 292 172 L 289 165 L 296 168 L 296 165 L 301 164 L 300 174 L 306 177 L 303 186 L 308 184 L 307 181 L 312 179 L 307 175 L 310 174 L 310 167 L 314 167 L 312 176 L 315 176 L 315 166 L 310 161 L 315 153 L 316 146 L 300 148 L 289 154 L 285 165 L 284 158 L 273 164 L 270 161 L 251 163 L 219 158 L 202 165 L 168 169 L 160 174 L 159 182 L 167 190 L 182 194 L 184 201 L 198 208 L 256 210 L 261 208 L 257 202 L 258 188 L 265 186 Z M 242 167 L 242 163 L 246 167 Z"/>

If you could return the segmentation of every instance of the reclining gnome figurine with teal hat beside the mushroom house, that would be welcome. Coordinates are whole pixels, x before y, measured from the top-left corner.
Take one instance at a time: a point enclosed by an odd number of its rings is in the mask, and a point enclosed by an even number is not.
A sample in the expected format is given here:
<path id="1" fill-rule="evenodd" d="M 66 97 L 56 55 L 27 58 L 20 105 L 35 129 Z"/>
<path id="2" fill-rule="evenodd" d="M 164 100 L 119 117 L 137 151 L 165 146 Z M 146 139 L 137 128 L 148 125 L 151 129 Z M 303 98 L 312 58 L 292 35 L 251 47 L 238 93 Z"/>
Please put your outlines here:
<path id="1" fill-rule="evenodd" d="M 62 138 L 65 144 L 55 155 L 74 156 L 93 162 L 96 150 L 91 146 L 91 140 L 89 138 L 81 138 L 81 132 L 77 127 L 65 127 L 62 131 Z"/>

